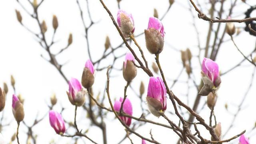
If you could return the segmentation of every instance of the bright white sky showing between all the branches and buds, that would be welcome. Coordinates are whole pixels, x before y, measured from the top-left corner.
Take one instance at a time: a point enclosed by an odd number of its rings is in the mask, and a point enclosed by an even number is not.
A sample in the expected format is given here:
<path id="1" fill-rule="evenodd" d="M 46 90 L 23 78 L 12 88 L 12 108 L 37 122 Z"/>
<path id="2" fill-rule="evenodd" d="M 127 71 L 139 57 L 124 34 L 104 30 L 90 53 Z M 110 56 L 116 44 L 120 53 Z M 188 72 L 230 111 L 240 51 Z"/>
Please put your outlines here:
<path id="1" fill-rule="evenodd" d="M 27 4 L 26 0 L 20 0 L 24 3 L 26 8 L 32 9 Z M 178 0 L 176 0 L 178 1 Z M 115 0 L 104 0 L 105 4 L 108 6 L 109 10 L 114 16 L 118 11 L 118 7 Z M 206 1 L 204 1 L 206 2 Z M 201 5 L 204 6 L 202 1 Z M 249 1 L 253 4 L 253 0 Z M 82 8 L 86 13 L 86 3 L 85 0 L 80 0 Z M 227 0 L 225 8 L 228 10 L 228 5 L 230 0 Z M 255 4 L 255 2 L 254 2 Z M 102 56 L 104 52 L 104 41 L 106 35 L 110 37 L 112 46 L 118 46 L 122 39 L 120 38 L 116 28 L 112 24 L 110 17 L 101 6 L 98 0 L 89 0 L 90 12 L 94 21 L 98 23 L 92 26 L 89 30 L 89 40 L 90 48 L 92 53 L 92 59 L 95 61 Z M 168 8 L 168 0 L 122 0 L 120 4 L 121 8 L 131 12 L 135 21 L 135 35 L 139 34 L 147 28 L 148 18 L 153 15 L 153 9 L 158 10 L 158 15 L 161 17 Z M 164 29 L 166 32 L 165 36 L 165 47 L 163 52 L 160 54 L 160 62 L 162 68 L 167 78 L 175 79 L 178 73 L 182 68 L 180 60 L 180 52 L 172 49 L 172 47 L 182 50 L 190 48 L 194 56 L 198 55 L 197 48 L 197 39 L 194 27 L 192 26 L 192 16 L 187 10 L 188 0 L 183 0 L 175 2 L 162 21 L 164 24 Z M 204 7 L 206 8 L 206 7 Z M 248 8 L 246 4 L 238 2 L 238 6 L 234 9 L 235 18 L 243 18 L 244 11 Z M 24 121 L 31 125 L 36 117 L 37 113 L 39 118 L 48 112 L 47 104 L 50 103 L 50 96 L 52 93 L 56 93 L 58 98 L 58 103 L 54 107 L 54 110 L 59 111 L 61 106 L 67 108 L 63 112 L 63 116 L 67 121 L 72 121 L 74 118 L 74 106 L 72 106 L 66 96 L 66 90 L 68 90 L 68 85 L 64 79 L 60 76 L 58 71 L 40 57 L 40 54 L 43 54 L 47 57 L 47 53 L 40 45 L 36 42 L 36 39 L 32 34 L 30 34 L 25 28 L 23 28 L 18 21 L 16 20 L 15 9 L 20 10 L 23 20 L 22 22 L 31 28 L 33 31 L 38 32 L 38 25 L 36 21 L 32 20 L 30 16 L 26 14 L 24 10 L 19 6 L 15 0 L 0 0 L 0 83 L 7 82 L 9 86 L 9 92 L 7 95 L 6 108 L 4 110 L 4 123 L 12 121 L 11 125 L 4 128 L 2 135 L 9 142 L 10 137 L 16 131 L 16 122 L 12 116 L 11 110 L 11 98 L 13 90 L 10 87 L 10 74 L 14 75 L 16 79 L 16 90 L 18 94 L 22 94 L 25 98 L 24 109 L 25 109 L 25 118 Z M 204 9 L 204 12 L 207 11 Z M 58 52 L 60 48 L 63 48 L 67 44 L 68 34 L 72 32 L 73 34 L 73 44 L 64 51 L 63 54 L 58 56 L 58 62 L 63 64 L 68 62 L 64 67 L 64 74 L 68 78 L 75 77 L 80 80 L 82 75 L 82 70 L 86 60 L 88 59 L 86 41 L 84 38 L 84 28 L 82 26 L 82 21 L 80 18 L 80 13 L 78 6 L 75 0 L 45 0 L 42 6 L 39 9 L 39 17 L 42 21 L 46 20 L 48 25 L 48 31 L 46 32 L 46 39 L 50 42 L 52 38 L 52 15 L 55 14 L 58 17 L 59 27 L 56 33 L 55 40 L 58 43 L 53 46 L 52 52 Z M 197 13 L 193 11 L 193 14 L 196 16 Z M 217 14 L 215 14 L 217 16 Z M 237 17 L 238 16 L 238 17 Z M 223 18 L 225 18 L 224 15 Z M 85 16 L 86 22 L 88 22 L 88 16 Z M 87 23 L 88 24 L 88 23 Z M 200 33 L 201 46 L 205 46 L 206 34 L 208 32 L 208 22 L 205 22 L 200 19 L 196 19 L 196 25 Z M 216 28 L 217 24 L 214 24 Z M 222 25 L 223 28 L 224 24 Z M 244 27 L 244 24 L 236 24 L 238 27 Z M 212 36 L 213 37 L 213 36 Z M 225 40 L 228 40 L 228 35 L 225 36 Z M 148 60 L 148 63 L 151 66 L 151 63 L 154 61 L 154 56 L 150 55 L 146 50 L 144 36 L 137 38 L 138 43 L 144 50 L 145 56 Z M 236 44 L 240 49 L 247 55 L 251 52 L 255 46 L 255 38 L 253 36 L 248 36 L 247 32 L 242 31 L 242 33 L 235 38 Z M 140 55 L 136 46 L 131 45 L 132 48 L 137 52 L 138 56 Z M 121 55 L 127 52 L 127 48 L 121 48 L 116 51 L 116 55 Z M 219 55 L 216 62 L 219 64 L 220 70 L 225 72 L 237 62 L 242 60 L 242 55 L 236 50 L 232 42 L 225 42 L 220 48 Z M 122 59 L 116 62 L 116 68 L 122 68 Z M 101 63 L 101 66 L 107 66 L 111 64 L 112 58 L 107 58 L 104 62 Z M 200 82 L 200 66 L 198 63 L 198 58 L 194 57 L 192 59 L 192 67 L 194 70 L 194 75 L 196 76 L 195 80 L 197 83 Z M 248 62 L 244 62 L 240 68 L 235 69 L 221 77 L 222 85 L 218 91 L 218 102 L 215 107 L 215 114 L 217 116 L 217 121 L 222 123 L 222 130 L 225 131 L 231 122 L 231 114 L 227 112 L 224 108 L 224 104 L 227 103 L 229 109 L 232 113 L 236 111 L 236 106 L 242 100 L 250 82 L 251 74 L 253 71 L 253 66 Z M 116 76 L 110 79 L 110 94 L 112 101 L 115 98 L 123 96 L 123 88 L 126 84 L 122 78 L 122 72 L 114 71 L 113 75 Z M 157 76 L 157 75 L 156 75 Z M 181 80 L 187 80 L 186 72 L 183 72 Z M 143 80 L 145 86 L 148 85 L 148 76 L 142 71 L 138 70 L 138 75 L 135 80 L 132 82 L 133 88 L 138 90 L 140 81 Z M 255 81 L 255 80 L 254 80 Z M 101 96 L 103 94 L 102 90 L 106 82 L 106 70 L 96 73 L 96 80 L 94 83 L 94 93 L 98 93 L 101 90 Z M 168 82 L 169 85 L 172 84 L 172 81 Z M 193 83 L 190 81 L 190 86 Z M 1 85 L 2 86 L 2 85 Z M 147 89 L 147 88 L 146 88 Z M 172 89 L 173 92 L 180 99 L 186 102 L 186 91 L 187 85 L 184 83 L 177 83 L 176 86 Z M 234 123 L 234 128 L 230 130 L 229 134 L 225 138 L 234 136 L 243 130 L 250 131 L 254 126 L 256 121 L 256 115 L 254 114 L 255 110 L 255 82 L 252 84 L 252 89 L 248 93 L 248 97 L 245 100 L 242 111 L 238 115 L 238 119 Z M 134 116 L 139 117 L 141 115 L 139 99 L 128 88 L 128 97 L 132 101 L 134 107 Z M 190 89 L 189 92 L 189 105 L 192 107 L 194 98 L 196 96 L 196 90 Z M 146 95 L 144 94 L 144 99 Z M 206 100 L 206 97 L 201 98 L 201 103 L 203 104 Z M 167 103 L 167 111 L 174 111 L 171 105 L 170 100 Z M 201 105 L 199 108 L 201 108 Z M 109 107 L 108 101 L 106 100 L 105 106 Z M 146 104 L 145 104 L 146 108 Z M 167 113 L 166 113 L 167 114 Z M 210 110 L 205 107 L 200 113 L 206 122 L 208 122 L 208 117 L 210 115 Z M 178 123 L 176 116 L 169 115 L 169 118 Z M 2 116 L 2 115 L 1 115 Z M 90 123 L 88 120 L 83 120 L 86 118 L 86 112 L 82 108 L 78 108 L 78 127 L 80 129 L 86 130 L 89 128 Z M 150 115 L 148 118 L 151 120 L 162 122 L 168 124 L 163 118 L 155 118 Z M 134 120 L 132 120 L 134 122 Z M 125 135 L 124 127 L 114 120 L 114 114 L 108 114 L 107 123 L 107 134 L 108 134 L 108 144 L 113 144 L 119 142 Z M 67 126 L 67 125 L 66 125 Z M 176 143 L 177 136 L 173 131 L 166 128 L 160 128 L 151 124 L 146 124 L 137 130 L 143 136 L 150 138 L 149 131 L 152 128 L 152 134 L 154 138 L 163 144 L 167 143 Z M 205 138 L 210 138 L 208 132 L 202 129 L 202 136 Z M 20 142 L 25 143 L 27 129 L 24 124 L 20 126 Z M 37 142 L 38 144 L 45 144 L 50 142 L 53 138 L 57 143 L 74 143 L 70 138 L 62 138 L 55 134 L 54 130 L 50 127 L 48 116 L 40 123 L 38 126 L 34 127 L 34 133 L 38 134 Z M 72 133 L 72 131 L 70 131 Z M 256 142 L 255 132 L 246 133 L 247 136 L 250 136 L 250 142 Z M 101 131 L 95 126 L 90 127 L 88 136 L 98 142 L 102 143 Z M 135 135 L 131 136 L 135 144 L 140 143 L 140 138 Z M 83 141 L 88 142 L 82 138 Z M 82 143 L 82 141 L 80 141 Z M 90 143 L 90 142 L 88 142 Z M 124 144 L 130 143 L 128 139 L 124 141 Z M 238 143 L 238 142 L 236 142 Z"/>

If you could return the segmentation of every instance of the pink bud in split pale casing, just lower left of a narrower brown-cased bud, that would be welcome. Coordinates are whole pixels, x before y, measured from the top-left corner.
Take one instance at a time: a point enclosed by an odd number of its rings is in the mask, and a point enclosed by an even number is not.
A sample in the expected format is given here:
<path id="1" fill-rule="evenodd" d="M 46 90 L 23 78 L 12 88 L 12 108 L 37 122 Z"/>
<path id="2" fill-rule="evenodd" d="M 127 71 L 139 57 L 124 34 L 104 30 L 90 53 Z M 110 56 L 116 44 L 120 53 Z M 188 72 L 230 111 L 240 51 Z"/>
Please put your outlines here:
<path id="1" fill-rule="evenodd" d="M 71 78 L 68 81 L 68 99 L 71 104 L 76 106 L 82 106 L 85 100 L 86 91 L 82 88 L 82 85 L 76 78 Z"/>

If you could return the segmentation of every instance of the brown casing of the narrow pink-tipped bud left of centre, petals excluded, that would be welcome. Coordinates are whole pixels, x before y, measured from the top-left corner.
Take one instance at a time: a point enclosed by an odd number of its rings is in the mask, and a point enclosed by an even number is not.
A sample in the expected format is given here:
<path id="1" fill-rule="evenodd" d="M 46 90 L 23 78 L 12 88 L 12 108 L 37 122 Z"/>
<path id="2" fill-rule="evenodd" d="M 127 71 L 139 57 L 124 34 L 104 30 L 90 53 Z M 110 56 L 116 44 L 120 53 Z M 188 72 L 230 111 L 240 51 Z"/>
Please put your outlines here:
<path id="1" fill-rule="evenodd" d="M 90 88 L 94 84 L 94 75 L 86 67 L 84 68 L 81 82 L 84 88 Z"/>

